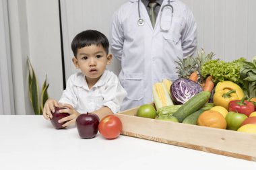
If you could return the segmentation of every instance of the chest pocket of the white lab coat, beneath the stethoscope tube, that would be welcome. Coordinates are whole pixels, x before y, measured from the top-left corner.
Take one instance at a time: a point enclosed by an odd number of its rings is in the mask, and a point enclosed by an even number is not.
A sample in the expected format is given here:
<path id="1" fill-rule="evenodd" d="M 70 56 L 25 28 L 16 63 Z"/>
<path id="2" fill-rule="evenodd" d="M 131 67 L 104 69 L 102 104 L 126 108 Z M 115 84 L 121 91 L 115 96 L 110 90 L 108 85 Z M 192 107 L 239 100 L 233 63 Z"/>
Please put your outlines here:
<path id="1" fill-rule="evenodd" d="M 168 16 L 170 17 L 170 16 Z M 175 44 L 181 39 L 181 28 L 183 19 L 181 17 L 173 16 L 172 19 L 162 19 L 161 31 L 164 39 L 167 41 L 172 40 Z"/>

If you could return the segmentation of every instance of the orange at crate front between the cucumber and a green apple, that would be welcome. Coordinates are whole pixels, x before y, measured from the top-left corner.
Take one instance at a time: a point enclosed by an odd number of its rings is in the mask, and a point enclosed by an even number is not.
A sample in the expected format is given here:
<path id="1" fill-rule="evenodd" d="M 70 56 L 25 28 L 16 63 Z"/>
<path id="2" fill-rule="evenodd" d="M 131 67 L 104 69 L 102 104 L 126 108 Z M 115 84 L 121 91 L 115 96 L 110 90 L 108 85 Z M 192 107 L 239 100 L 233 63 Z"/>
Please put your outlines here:
<path id="1" fill-rule="evenodd" d="M 220 112 L 215 110 L 206 110 L 199 116 L 197 125 L 226 129 L 226 120 Z"/>

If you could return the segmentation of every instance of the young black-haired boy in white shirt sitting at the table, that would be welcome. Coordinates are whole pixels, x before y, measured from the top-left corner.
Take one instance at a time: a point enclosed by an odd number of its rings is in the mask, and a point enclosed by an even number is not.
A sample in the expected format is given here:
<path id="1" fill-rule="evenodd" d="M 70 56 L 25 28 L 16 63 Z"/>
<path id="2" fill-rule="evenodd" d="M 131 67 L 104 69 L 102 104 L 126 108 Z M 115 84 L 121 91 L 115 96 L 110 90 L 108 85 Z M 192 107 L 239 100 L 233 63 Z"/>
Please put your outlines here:
<path id="1" fill-rule="evenodd" d="M 65 107 L 60 112 L 70 115 L 59 122 L 63 127 L 75 124 L 79 114 L 90 112 L 100 118 L 119 112 L 120 105 L 127 95 L 118 77 L 108 70 L 112 54 L 108 54 L 108 39 L 96 30 L 86 30 L 75 36 L 71 43 L 74 54 L 73 64 L 81 73 L 71 75 L 59 103 L 48 99 L 44 104 L 43 116 L 46 120 L 53 118 L 51 112 L 55 107 Z"/>

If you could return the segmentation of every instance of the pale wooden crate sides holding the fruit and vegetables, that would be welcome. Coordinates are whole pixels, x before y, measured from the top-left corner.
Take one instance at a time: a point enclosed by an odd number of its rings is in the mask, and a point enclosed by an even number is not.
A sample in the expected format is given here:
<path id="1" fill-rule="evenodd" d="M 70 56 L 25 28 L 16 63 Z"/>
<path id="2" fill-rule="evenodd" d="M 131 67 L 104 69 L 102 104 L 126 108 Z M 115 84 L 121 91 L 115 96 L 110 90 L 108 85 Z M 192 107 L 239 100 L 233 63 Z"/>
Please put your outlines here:
<path id="1" fill-rule="evenodd" d="M 256 161 L 256 134 L 140 118 L 137 110 L 116 114 L 123 123 L 121 134 Z"/>

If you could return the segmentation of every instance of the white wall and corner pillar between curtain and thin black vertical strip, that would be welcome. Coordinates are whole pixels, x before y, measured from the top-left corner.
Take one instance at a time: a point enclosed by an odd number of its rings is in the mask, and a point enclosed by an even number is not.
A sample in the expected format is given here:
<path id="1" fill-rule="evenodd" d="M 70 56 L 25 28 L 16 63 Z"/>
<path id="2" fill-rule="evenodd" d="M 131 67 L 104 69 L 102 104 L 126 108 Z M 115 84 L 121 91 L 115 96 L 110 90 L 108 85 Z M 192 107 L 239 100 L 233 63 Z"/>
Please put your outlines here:
<path id="1" fill-rule="evenodd" d="M 38 83 L 48 75 L 49 95 L 63 91 L 61 39 L 57 0 L 8 1 L 15 114 L 34 114 L 28 97 L 30 58 Z"/>

